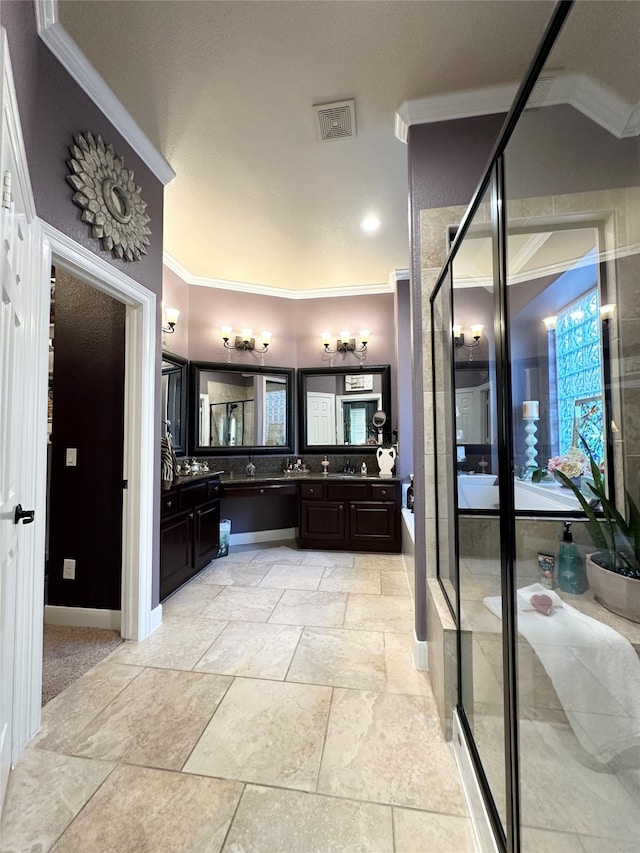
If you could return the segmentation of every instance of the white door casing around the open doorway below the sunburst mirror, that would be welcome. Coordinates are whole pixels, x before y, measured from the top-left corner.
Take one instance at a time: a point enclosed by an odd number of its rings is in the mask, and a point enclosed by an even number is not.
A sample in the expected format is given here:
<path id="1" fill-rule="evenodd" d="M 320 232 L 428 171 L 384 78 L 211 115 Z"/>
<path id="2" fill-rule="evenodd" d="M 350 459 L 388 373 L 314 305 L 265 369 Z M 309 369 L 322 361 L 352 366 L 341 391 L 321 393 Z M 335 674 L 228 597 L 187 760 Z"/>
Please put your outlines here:
<path id="1" fill-rule="evenodd" d="M 162 621 L 161 605 L 151 606 L 157 297 L 52 225 L 41 220 L 41 227 L 46 269 L 60 266 L 126 305 L 123 478 L 128 488 L 123 492 L 120 631 L 125 639 L 140 641 Z M 46 387 L 39 394 L 46 399 Z"/>

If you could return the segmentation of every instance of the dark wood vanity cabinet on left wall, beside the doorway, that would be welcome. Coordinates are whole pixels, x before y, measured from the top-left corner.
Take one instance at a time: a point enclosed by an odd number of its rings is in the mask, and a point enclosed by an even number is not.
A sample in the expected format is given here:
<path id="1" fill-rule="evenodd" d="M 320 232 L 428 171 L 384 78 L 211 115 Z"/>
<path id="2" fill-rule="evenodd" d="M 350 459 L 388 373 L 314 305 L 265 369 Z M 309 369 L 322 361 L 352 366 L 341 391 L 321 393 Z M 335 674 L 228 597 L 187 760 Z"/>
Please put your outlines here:
<path id="1" fill-rule="evenodd" d="M 160 601 L 203 569 L 220 546 L 217 478 L 179 483 L 162 493 L 160 523 Z"/>

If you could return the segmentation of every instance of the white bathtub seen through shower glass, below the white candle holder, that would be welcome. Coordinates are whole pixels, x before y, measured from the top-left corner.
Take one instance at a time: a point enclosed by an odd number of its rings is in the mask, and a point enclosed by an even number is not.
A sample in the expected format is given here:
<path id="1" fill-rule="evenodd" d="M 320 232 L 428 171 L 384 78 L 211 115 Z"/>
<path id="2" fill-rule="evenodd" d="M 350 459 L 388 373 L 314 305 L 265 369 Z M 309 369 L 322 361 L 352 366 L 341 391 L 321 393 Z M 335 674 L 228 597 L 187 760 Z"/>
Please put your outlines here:
<path id="1" fill-rule="evenodd" d="M 495 474 L 460 474 L 458 509 L 499 509 Z M 570 489 L 558 483 L 532 483 L 515 480 L 517 510 L 537 512 L 571 512 L 580 509 L 578 499 Z"/>

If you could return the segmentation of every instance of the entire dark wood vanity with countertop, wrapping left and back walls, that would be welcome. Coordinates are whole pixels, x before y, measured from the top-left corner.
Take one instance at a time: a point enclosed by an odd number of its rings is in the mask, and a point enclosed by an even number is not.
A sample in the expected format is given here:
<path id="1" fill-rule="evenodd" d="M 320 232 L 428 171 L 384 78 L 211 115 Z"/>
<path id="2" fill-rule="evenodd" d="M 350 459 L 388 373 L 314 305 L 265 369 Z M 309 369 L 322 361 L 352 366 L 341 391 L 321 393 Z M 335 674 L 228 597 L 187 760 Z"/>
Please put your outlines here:
<path id="1" fill-rule="evenodd" d="M 218 553 L 220 508 L 244 515 L 251 505 L 287 524 L 293 516 L 300 548 L 334 551 L 401 551 L 400 479 L 377 476 L 304 474 L 222 478 L 189 474 L 162 493 L 160 525 L 160 600 L 201 571 Z M 236 513 L 237 510 L 237 513 Z M 274 521 L 275 529 L 280 526 Z"/>

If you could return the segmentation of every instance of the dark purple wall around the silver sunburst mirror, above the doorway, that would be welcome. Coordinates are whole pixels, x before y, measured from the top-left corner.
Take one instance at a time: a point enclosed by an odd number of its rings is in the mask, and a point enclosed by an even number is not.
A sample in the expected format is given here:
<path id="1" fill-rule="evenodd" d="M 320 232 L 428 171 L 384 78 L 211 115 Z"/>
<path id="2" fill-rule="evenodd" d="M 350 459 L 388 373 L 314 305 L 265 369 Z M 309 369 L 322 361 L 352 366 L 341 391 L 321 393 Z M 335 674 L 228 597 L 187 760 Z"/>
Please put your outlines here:
<path id="1" fill-rule="evenodd" d="M 13 67 L 18 109 L 29 162 L 38 216 L 71 237 L 107 263 L 117 267 L 158 296 L 162 293 L 162 229 L 163 187 L 161 182 L 140 160 L 133 149 L 122 139 L 108 119 L 89 99 L 84 91 L 64 70 L 53 54 L 38 37 L 35 9 L 32 0 L 2 3 L 1 23 L 7 31 L 9 53 Z M 69 172 L 68 147 L 73 135 L 91 131 L 101 134 L 105 142 L 112 143 L 116 154 L 124 158 L 125 166 L 133 170 L 136 183 L 148 204 L 151 217 L 148 253 L 142 260 L 128 263 L 113 258 L 101 244 L 91 237 L 89 226 L 81 221 L 81 210 L 72 202 L 73 190 L 66 181 Z M 160 300 L 157 308 L 160 325 Z M 82 323 L 82 317 L 78 317 Z M 158 465 L 154 471 L 154 551 L 152 604 L 159 601 L 159 518 L 160 518 L 160 346 L 156 352 L 157 385 L 155 423 L 158 431 L 150 436 L 156 445 Z M 64 415 L 58 412 L 57 426 Z M 91 429 L 91 424 L 87 425 Z M 102 460 L 109 464 L 108 460 Z M 91 497 L 86 496 L 90 501 Z M 63 604 L 63 601 L 58 601 Z M 69 602 L 71 603 L 71 602 Z M 96 602 L 93 606 L 110 607 Z"/>

